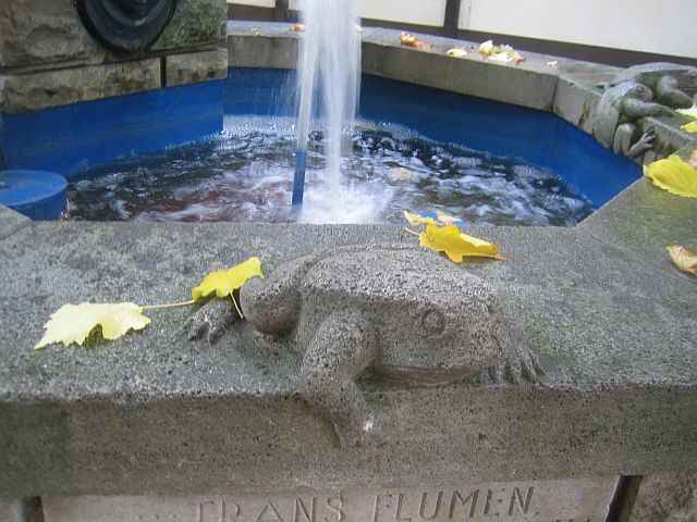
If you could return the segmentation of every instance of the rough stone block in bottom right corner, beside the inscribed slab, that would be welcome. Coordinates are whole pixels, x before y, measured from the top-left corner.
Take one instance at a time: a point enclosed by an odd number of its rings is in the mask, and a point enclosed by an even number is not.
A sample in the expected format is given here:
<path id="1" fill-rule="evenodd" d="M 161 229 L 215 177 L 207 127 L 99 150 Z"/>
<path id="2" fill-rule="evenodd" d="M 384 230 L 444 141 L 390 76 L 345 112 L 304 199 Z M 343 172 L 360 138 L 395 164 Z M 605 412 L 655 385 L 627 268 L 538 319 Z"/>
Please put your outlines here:
<path id="1" fill-rule="evenodd" d="M 690 522 L 697 520 L 697 471 L 641 477 L 626 522 Z"/>

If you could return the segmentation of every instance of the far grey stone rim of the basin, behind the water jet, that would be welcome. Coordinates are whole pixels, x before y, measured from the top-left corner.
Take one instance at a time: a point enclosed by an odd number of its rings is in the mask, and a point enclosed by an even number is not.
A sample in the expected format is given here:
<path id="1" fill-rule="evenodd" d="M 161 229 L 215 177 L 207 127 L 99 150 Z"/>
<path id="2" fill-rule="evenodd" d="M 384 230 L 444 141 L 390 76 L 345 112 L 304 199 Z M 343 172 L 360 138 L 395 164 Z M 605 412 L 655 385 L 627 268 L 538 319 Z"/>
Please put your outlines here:
<path id="1" fill-rule="evenodd" d="M 295 69 L 299 33 L 292 24 L 229 22 L 228 63 L 231 67 Z M 431 49 L 415 49 L 400 42 L 400 30 L 364 27 L 363 72 L 390 79 L 476 96 L 530 109 L 551 111 L 590 134 L 596 107 L 602 95 L 597 88 L 622 71 L 610 65 L 580 62 L 523 51 L 519 64 L 485 60 L 480 42 L 415 34 Z M 504 44 L 497 41 L 496 44 Z M 452 58 L 445 51 L 464 48 L 467 55 Z M 557 62 L 549 65 L 549 62 Z M 697 137 L 680 130 L 685 116 L 647 117 L 657 147 L 671 153 L 697 148 Z"/>

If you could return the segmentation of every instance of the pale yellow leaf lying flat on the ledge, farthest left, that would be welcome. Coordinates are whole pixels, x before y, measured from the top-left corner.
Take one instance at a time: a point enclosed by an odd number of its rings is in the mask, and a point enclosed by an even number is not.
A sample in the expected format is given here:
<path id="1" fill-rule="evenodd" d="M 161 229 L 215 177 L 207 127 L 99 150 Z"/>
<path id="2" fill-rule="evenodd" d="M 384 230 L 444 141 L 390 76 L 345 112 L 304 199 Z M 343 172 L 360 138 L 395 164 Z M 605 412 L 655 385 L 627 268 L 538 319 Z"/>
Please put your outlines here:
<path id="1" fill-rule="evenodd" d="M 150 323 L 142 312 L 143 307 L 133 302 L 64 304 L 44 325 L 46 333 L 34 348 L 54 343 L 82 345 L 98 326 L 105 339 L 118 339 L 130 330 L 143 330 Z"/>

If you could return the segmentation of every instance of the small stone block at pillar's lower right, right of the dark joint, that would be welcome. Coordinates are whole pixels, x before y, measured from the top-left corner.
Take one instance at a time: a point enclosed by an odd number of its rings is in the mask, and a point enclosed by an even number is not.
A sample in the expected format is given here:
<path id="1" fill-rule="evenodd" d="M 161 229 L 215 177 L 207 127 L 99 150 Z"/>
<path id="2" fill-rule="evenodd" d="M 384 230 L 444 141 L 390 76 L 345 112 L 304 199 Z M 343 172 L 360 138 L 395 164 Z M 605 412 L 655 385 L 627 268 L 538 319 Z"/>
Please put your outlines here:
<path id="1" fill-rule="evenodd" d="M 169 54 L 164 60 L 167 87 L 228 77 L 228 49 Z"/>

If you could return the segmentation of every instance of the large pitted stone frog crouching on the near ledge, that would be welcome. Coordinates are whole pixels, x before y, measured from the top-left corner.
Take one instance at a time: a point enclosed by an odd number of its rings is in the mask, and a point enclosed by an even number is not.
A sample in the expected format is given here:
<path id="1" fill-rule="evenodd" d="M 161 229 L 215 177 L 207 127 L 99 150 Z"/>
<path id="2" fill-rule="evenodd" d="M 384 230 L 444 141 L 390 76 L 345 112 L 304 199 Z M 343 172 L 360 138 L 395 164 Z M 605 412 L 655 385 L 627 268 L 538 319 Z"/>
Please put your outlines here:
<path id="1" fill-rule="evenodd" d="M 294 336 L 305 350 L 299 395 L 333 422 L 342 445 L 379 424 L 355 382 L 366 370 L 420 384 L 485 369 L 513 382 L 541 372 L 530 352 L 511 349 L 496 290 L 424 249 L 352 246 L 296 259 L 248 281 L 240 304 L 255 330 Z M 233 316 L 230 302 L 215 300 L 185 328 L 189 338 L 216 337 Z"/>

